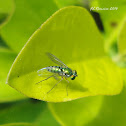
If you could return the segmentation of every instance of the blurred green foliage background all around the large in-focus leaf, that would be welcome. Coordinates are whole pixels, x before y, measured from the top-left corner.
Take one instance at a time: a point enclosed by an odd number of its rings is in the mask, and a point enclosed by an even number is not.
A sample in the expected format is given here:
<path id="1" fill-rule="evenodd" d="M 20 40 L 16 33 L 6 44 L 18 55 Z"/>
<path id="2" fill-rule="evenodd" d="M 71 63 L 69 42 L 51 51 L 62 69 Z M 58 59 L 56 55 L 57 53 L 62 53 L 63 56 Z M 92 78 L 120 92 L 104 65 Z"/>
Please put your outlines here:
<path id="1" fill-rule="evenodd" d="M 112 78 L 111 82 L 116 78 L 118 79 L 118 76 L 122 76 L 123 79 L 121 79 L 124 86 L 120 94 L 104 96 L 104 93 L 102 93 L 104 91 L 103 89 L 100 93 L 96 93 L 97 95 L 102 94 L 102 96 L 89 96 L 68 102 L 51 103 L 28 98 L 6 84 L 7 75 L 16 56 L 31 35 L 39 29 L 46 20 L 48 21 L 48 18 L 52 14 L 59 9 L 69 6 L 85 8 L 93 17 L 100 36 L 104 41 L 105 55 L 108 56 L 121 71 L 121 74 L 118 73 L 117 77 L 114 72 L 112 73 L 113 75 L 111 75 L 111 72 L 107 75 Z M 100 8 L 109 8 L 109 10 L 100 10 Z M 66 15 L 64 15 L 64 18 L 65 16 Z M 87 19 L 85 18 L 85 20 Z M 95 32 L 94 29 L 92 29 L 92 32 L 85 32 L 93 34 L 93 32 Z M 45 31 L 48 31 L 48 29 Z M 99 41 L 102 40 L 96 36 L 96 40 L 97 39 Z M 59 45 L 62 45 L 62 43 L 59 42 Z M 94 45 L 92 45 L 92 48 L 88 47 L 88 49 L 92 51 Z M 96 45 L 98 50 L 100 50 L 99 48 L 101 48 L 101 46 L 98 45 L 98 43 L 96 43 Z M 90 55 L 90 53 L 88 55 Z M 69 63 L 69 59 L 67 61 Z M 94 66 L 91 67 L 90 69 L 96 69 Z M 1 126 L 125 126 L 125 67 L 125 0 L 0 0 Z M 88 70 L 90 71 L 90 69 Z M 113 81 L 113 85 L 114 84 L 116 84 L 116 82 Z M 121 83 L 116 87 L 119 88 L 119 90 L 121 90 L 120 85 Z M 110 87 L 110 89 L 114 92 L 113 95 L 117 94 L 112 87 Z M 105 93 L 105 95 L 107 94 Z M 108 95 L 112 94 L 108 93 Z"/>

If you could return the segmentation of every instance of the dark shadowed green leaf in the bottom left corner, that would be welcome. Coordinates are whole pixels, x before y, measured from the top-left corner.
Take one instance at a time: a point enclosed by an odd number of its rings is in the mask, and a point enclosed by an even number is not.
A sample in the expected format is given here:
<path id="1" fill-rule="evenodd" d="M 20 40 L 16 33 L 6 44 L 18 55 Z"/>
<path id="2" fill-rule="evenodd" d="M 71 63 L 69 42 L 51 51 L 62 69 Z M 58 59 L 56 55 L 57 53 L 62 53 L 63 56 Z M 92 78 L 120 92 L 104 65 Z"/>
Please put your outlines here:
<path id="1" fill-rule="evenodd" d="M 29 124 L 33 126 L 59 126 L 47 103 L 34 99 L 0 104 L 0 124 Z M 16 125 L 16 124 L 15 124 Z"/>

